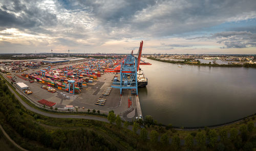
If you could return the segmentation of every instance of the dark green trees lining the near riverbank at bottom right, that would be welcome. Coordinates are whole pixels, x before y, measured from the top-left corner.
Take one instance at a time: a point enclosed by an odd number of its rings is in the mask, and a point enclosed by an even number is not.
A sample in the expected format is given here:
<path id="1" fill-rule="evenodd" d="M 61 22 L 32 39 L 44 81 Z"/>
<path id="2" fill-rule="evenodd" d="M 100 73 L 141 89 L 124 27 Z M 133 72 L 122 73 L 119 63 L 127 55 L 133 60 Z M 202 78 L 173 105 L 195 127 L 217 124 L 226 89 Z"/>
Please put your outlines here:
<path id="1" fill-rule="evenodd" d="M 254 118 L 252 118 L 254 120 Z M 181 146 L 179 133 L 173 129 L 172 124 L 165 126 L 165 131 L 162 131 L 163 126 L 158 126 L 152 116 L 145 116 L 144 123 L 146 127 L 155 127 L 150 133 L 150 142 L 152 144 L 161 144 L 171 146 L 173 150 L 180 150 L 184 147 L 186 150 L 252 150 L 256 148 L 256 132 L 253 121 L 244 121 L 239 128 L 209 128 L 198 132 L 191 132 L 184 138 L 184 145 Z M 158 127 L 158 128 L 156 128 Z M 140 138 L 145 140 L 145 128 L 142 128 Z M 156 131 L 158 130 L 158 131 Z M 166 131 L 167 130 L 167 131 Z M 161 134 L 161 136 L 160 136 Z M 160 137 L 160 141 L 158 138 Z M 171 139 L 171 143 L 169 143 Z"/>

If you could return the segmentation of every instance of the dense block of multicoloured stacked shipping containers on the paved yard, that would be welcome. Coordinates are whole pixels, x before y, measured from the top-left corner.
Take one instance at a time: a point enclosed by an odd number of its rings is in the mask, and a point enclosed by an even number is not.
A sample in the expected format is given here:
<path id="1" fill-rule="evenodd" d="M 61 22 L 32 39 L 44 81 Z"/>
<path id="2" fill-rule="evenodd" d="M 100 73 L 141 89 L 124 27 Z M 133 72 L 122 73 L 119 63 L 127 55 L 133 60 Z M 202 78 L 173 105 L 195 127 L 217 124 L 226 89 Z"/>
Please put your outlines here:
<path id="1" fill-rule="evenodd" d="M 113 61 L 106 59 L 103 59 L 103 61 L 91 60 L 76 66 L 67 66 L 57 69 L 51 69 L 51 67 L 49 67 L 45 71 L 22 74 L 22 76 L 66 92 L 69 92 L 68 81 L 74 80 L 75 93 L 79 94 L 82 87 L 87 87 L 88 83 L 96 81 L 101 74 L 104 74 L 105 69 L 109 69 L 113 67 L 113 65 Z M 71 84 L 71 87 L 73 87 L 73 84 Z M 69 93 L 73 93 L 73 88 Z"/>

